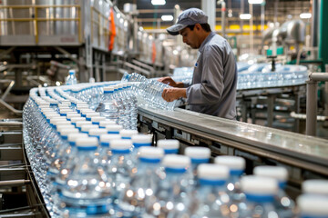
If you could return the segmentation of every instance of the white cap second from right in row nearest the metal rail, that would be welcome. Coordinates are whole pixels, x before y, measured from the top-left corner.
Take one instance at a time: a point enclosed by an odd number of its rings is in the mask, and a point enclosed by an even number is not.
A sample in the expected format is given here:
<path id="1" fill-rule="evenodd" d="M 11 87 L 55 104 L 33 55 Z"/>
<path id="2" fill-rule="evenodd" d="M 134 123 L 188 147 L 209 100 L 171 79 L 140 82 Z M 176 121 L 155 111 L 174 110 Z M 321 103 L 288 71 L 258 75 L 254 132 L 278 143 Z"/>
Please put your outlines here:
<path id="1" fill-rule="evenodd" d="M 253 170 L 253 174 L 263 177 L 271 177 L 278 180 L 278 182 L 286 182 L 288 179 L 288 171 L 282 166 L 256 166 Z"/>

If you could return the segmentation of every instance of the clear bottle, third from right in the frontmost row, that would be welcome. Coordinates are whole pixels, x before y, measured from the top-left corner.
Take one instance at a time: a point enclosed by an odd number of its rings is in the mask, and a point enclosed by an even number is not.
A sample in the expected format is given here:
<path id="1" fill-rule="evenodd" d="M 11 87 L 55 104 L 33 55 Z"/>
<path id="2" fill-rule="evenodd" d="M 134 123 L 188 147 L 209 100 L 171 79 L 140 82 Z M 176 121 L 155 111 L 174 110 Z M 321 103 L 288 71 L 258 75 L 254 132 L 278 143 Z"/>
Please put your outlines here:
<path id="1" fill-rule="evenodd" d="M 192 218 L 228 217 L 231 204 L 226 186 L 229 168 L 217 164 L 201 163 L 197 172 L 200 186 L 194 201 L 192 201 L 195 203 L 191 206 L 195 209 Z"/>

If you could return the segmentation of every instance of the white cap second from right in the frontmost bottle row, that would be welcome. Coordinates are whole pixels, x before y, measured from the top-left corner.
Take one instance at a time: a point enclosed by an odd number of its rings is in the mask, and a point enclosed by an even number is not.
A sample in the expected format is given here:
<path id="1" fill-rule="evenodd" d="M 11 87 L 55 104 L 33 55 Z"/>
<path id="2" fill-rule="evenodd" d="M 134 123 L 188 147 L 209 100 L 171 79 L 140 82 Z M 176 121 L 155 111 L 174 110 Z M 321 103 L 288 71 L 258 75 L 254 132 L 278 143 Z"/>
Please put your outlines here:
<path id="1" fill-rule="evenodd" d="M 278 182 L 269 177 L 246 175 L 241 178 L 243 193 L 272 195 L 278 192 Z"/>

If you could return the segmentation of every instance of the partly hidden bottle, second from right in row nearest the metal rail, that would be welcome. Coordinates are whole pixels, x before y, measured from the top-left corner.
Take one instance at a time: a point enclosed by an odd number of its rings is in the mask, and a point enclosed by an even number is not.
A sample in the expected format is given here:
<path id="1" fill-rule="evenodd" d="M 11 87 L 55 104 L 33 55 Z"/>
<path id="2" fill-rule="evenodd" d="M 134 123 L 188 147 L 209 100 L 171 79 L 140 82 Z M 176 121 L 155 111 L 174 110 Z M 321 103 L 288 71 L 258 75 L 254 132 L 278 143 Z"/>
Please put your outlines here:
<path id="1" fill-rule="evenodd" d="M 290 218 L 294 217 L 293 213 L 295 203 L 292 199 L 284 192 L 284 188 L 288 179 L 288 172 L 286 168 L 281 166 L 256 166 L 253 173 L 258 176 L 271 177 L 278 181 L 279 190 L 275 194 L 275 207 L 282 215 L 282 217 Z"/>

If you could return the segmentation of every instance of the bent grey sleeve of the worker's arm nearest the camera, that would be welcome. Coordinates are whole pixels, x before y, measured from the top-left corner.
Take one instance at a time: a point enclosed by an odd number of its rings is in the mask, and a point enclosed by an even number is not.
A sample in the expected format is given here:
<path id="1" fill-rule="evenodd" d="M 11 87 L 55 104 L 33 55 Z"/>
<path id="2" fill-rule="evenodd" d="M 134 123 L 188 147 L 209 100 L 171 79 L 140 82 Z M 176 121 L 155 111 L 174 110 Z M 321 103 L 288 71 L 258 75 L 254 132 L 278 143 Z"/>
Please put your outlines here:
<path id="1" fill-rule="evenodd" d="M 189 104 L 214 104 L 223 92 L 223 52 L 219 46 L 208 45 L 202 54 L 201 83 L 187 88 Z"/>

